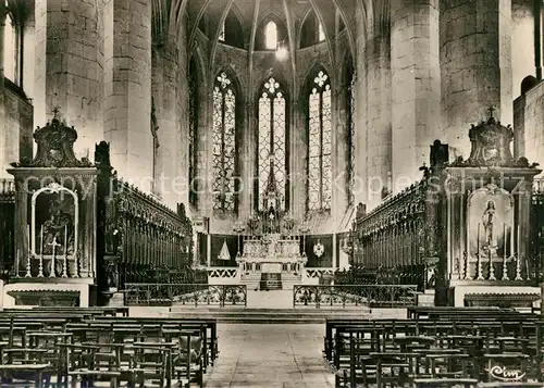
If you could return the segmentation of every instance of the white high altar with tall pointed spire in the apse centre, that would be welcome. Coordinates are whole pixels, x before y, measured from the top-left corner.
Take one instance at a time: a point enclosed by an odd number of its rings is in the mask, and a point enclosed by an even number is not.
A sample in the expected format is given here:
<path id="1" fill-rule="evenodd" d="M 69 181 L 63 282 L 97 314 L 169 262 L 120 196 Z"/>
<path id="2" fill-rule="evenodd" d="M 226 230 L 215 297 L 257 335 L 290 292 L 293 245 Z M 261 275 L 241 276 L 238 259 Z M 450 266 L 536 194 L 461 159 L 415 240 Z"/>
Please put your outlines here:
<path id="1" fill-rule="evenodd" d="M 295 221 L 284 211 L 284 203 L 274 174 L 270 174 L 261 211 L 243 228 L 249 234 L 243 237 L 243 251 L 236 258 L 242 274 L 302 273 L 308 259 L 300 253 L 300 237 L 295 237 Z"/>

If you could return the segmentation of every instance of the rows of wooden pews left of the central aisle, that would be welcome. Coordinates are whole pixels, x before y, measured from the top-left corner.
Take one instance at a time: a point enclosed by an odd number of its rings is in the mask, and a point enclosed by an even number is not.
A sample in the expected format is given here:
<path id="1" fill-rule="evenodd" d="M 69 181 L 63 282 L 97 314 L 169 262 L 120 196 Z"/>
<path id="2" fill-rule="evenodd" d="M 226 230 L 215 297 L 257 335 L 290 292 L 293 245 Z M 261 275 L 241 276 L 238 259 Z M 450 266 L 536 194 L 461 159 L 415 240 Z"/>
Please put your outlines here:
<path id="1" fill-rule="evenodd" d="M 215 320 L 127 308 L 0 312 L 0 387 L 191 387 L 219 355 Z"/>

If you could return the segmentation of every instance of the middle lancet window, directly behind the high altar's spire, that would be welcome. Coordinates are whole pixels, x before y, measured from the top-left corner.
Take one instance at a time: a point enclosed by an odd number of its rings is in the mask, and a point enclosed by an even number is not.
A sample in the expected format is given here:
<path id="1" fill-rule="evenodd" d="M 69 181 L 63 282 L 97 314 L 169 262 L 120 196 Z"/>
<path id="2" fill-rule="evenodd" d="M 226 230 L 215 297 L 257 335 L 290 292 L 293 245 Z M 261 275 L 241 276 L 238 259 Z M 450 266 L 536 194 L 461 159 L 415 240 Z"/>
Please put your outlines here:
<path id="1" fill-rule="evenodd" d="M 280 209 L 286 200 L 286 100 L 280 83 L 270 77 L 261 88 L 259 98 L 258 177 L 259 210 L 265 210 L 262 200 L 273 184 L 280 198 Z"/>

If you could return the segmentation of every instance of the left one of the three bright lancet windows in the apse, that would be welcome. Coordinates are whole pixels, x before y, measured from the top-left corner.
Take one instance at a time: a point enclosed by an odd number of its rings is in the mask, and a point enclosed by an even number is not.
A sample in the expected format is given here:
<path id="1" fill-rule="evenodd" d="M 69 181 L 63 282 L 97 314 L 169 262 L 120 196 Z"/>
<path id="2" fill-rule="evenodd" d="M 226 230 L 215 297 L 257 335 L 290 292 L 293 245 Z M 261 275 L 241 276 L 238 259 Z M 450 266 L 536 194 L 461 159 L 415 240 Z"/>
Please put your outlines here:
<path id="1" fill-rule="evenodd" d="M 213 209 L 235 210 L 236 93 L 225 72 L 213 86 Z"/>

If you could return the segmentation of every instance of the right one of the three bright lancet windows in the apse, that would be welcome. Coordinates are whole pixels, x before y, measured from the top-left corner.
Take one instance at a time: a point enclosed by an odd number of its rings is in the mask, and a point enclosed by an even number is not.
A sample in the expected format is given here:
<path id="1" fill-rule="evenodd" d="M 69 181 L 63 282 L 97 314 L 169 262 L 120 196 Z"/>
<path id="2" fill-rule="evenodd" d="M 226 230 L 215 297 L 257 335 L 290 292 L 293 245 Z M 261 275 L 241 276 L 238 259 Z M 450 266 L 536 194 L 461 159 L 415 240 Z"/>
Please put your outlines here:
<path id="1" fill-rule="evenodd" d="M 308 210 L 330 210 L 332 198 L 331 83 L 323 71 L 308 97 Z"/>

